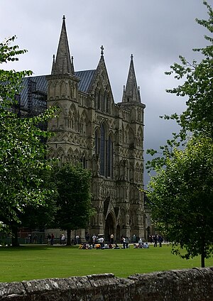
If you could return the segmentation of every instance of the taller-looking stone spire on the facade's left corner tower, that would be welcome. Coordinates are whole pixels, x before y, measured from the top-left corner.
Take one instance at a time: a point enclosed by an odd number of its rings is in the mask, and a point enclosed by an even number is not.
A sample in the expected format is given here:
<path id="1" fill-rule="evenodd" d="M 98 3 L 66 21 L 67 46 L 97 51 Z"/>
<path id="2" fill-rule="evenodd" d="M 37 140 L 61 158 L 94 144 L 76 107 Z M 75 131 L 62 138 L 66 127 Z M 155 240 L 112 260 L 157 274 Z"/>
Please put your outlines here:
<path id="1" fill-rule="evenodd" d="M 56 59 L 53 60 L 52 75 L 70 73 L 74 75 L 73 61 L 70 59 L 70 49 L 65 26 L 65 16 L 62 18 L 62 29 L 58 43 Z"/>

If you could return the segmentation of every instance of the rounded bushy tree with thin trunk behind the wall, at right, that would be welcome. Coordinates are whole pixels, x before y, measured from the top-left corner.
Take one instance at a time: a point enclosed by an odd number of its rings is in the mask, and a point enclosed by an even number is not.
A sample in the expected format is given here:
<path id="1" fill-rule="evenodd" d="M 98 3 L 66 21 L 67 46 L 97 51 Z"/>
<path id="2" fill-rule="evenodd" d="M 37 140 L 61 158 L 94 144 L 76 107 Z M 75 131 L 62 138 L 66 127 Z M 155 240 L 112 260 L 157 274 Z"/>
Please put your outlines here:
<path id="1" fill-rule="evenodd" d="M 173 253 L 201 254 L 202 267 L 213 251 L 212 158 L 212 138 L 192 138 L 184 151 L 176 148 L 166 159 L 147 192 L 155 225 L 174 243 Z"/>

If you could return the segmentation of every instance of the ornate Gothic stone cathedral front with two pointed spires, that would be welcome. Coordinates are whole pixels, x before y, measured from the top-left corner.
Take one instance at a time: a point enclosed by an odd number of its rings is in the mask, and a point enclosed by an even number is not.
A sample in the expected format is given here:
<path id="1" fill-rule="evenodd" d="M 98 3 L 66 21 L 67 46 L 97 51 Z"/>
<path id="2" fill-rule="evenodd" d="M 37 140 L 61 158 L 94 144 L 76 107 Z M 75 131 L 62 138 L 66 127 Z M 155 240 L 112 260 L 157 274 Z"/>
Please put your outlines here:
<path id="1" fill-rule="evenodd" d="M 50 158 L 60 164 L 81 163 L 92 171 L 93 207 L 89 235 L 114 234 L 144 237 L 143 111 L 133 66 L 121 102 L 115 104 L 104 61 L 97 69 L 75 72 L 67 41 L 65 17 L 53 56 L 48 82 L 48 106 L 58 106 L 58 117 L 49 121 L 55 133 L 48 141 Z"/>

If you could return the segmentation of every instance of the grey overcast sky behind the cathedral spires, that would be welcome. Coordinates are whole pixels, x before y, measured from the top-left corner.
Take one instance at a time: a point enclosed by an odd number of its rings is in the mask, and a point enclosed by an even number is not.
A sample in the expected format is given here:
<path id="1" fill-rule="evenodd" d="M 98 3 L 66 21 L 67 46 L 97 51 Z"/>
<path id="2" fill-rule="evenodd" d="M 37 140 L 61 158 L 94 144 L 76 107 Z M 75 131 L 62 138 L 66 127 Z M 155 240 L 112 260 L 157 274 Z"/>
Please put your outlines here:
<path id="1" fill-rule="evenodd" d="M 212 1 L 208 1 L 210 5 Z M 195 18 L 208 18 L 202 0 L 1 0 L 0 40 L 16 35 L 16 44 L 28 50 L 17 63 L 1 69 L 49 74 L 63 15 L 75 71 L 95 69 L 104 45 L 114 102 L 121 102 L 133 54 L 141 99 L 146 104 L 145 152 L 165 144 L 177 126 L 158 116 L 180 113 L 185 99 L 165 92 L 178 82 L 164 72 L 178 62 L 178 55 L 192 60 L 197 55 L 192 48 L 206 45 L 207 31 L 195 22 Z"/>

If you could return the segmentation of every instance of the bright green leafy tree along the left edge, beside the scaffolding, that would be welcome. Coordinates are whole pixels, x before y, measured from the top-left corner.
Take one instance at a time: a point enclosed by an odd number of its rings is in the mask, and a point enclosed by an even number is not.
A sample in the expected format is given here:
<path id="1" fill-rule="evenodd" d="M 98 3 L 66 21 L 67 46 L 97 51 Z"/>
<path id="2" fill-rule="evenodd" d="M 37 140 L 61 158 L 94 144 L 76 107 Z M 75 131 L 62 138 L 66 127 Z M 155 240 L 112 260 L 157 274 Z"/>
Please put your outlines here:
<path id="1" fill-rule="evenodd" d="M 0 43 L 0 63 L 18 60 L 26 53 L 12 45 L 15 36 Z M 20 222 L 20 214 L 28 205 L 45 204 L 53 192 L 43 185 L 40 177 L 50 165 L 45 160 L 46 146 L 41 137 L 50 133 L 41 131 L 38 124 L 53 116 L 55 109 L 32 118 L 18 118 L 16 95 L 21 81 L 31 71 L 0 70 L 0 221 L 10 227 Z"/>

